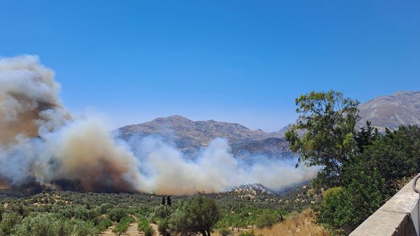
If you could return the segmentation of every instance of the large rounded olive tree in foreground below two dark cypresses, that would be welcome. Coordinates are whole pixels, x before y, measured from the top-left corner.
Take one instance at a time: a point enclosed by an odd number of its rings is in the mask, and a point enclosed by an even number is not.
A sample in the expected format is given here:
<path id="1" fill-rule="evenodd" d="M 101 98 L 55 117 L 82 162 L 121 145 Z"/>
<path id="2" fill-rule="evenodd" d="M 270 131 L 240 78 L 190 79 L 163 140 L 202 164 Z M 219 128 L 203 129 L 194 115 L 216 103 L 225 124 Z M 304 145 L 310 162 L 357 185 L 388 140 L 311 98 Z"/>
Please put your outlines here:
<path id="1" fill-rule="evenodd" d="M 169 228 L 174 233 L 211 236 L 211 230 L 220 218 L 215 200 L 197 196 L 181 202 L 169 219 Z"/>

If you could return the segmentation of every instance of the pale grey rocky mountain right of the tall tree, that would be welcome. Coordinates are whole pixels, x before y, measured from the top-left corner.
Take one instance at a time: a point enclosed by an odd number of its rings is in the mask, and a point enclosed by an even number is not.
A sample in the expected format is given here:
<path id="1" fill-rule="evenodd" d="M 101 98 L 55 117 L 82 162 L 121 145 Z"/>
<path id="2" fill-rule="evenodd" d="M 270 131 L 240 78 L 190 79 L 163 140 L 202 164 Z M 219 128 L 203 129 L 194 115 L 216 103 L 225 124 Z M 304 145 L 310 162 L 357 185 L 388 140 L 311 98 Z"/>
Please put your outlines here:
<path id="1" fill-rule="evenodd" d="M 360 124 L 367 120 L 379 131 L 400 125 L 420 125 L 420 91 L 397 91 L 359 105 Z"/>

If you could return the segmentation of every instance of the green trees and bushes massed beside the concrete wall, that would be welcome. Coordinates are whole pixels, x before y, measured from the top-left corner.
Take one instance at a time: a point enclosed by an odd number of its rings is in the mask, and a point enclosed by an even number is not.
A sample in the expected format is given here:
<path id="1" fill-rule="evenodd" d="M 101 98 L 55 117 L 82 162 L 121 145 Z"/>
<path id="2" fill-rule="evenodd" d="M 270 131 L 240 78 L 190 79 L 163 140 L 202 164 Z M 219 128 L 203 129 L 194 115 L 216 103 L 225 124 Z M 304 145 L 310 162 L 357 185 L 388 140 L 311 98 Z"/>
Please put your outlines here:
<path id="1" fill-rule="evenodd" d="M 358 124 L 358 101 L 337 91 L 296 99 L 300 117 L 286 133 L 298 164 L 318 165 L 312 182 L 326 189 L 318 221 L 347 235 L 420 171 L 420 128 L 379 133 Z"/>

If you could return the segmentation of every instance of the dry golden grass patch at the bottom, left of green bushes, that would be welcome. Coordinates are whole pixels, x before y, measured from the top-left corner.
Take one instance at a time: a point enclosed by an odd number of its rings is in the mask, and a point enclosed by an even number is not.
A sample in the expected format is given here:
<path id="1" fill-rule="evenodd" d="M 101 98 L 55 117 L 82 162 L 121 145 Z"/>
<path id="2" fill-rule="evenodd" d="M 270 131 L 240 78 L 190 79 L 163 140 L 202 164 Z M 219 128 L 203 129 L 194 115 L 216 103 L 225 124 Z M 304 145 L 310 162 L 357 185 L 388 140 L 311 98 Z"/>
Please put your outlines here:
<path id="1" fill-rule="evenodd" d="M 263 236 L 329 236 L 328 230 L 315 222 L 315 214 L 311 209 L 305 209 L 302 213 L 292 213 L 283 222 L 277 223 L 271 228 L 255 228 L 254 235 Z M 214 236 L 219 236 L 215 232 Z M 234 235 L 239 235 L 235 233 Z"/>

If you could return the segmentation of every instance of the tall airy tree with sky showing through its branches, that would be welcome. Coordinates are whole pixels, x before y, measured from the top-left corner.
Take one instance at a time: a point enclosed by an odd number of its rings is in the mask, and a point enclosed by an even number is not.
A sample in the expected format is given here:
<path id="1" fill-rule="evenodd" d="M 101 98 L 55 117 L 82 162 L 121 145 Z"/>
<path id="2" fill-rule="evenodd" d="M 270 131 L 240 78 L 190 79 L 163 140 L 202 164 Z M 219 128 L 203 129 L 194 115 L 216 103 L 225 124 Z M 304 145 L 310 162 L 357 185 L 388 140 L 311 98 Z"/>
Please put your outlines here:
<path id="1" fill-rule="evenodd" d="M 336 186 L 343 165 L 357 149 L 354 137 L 358 121 L 358 101 L 341 92 L 312 91 L 296 99 L 297 123 L 286 132 L 290 149 L 300 154 L 298 163 L 321 165 L 318 182 Z"/>

